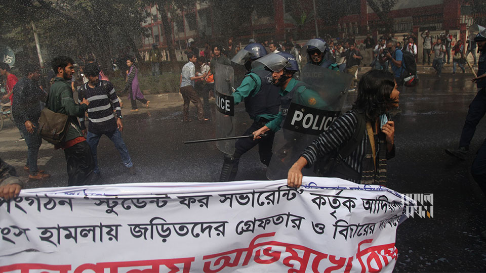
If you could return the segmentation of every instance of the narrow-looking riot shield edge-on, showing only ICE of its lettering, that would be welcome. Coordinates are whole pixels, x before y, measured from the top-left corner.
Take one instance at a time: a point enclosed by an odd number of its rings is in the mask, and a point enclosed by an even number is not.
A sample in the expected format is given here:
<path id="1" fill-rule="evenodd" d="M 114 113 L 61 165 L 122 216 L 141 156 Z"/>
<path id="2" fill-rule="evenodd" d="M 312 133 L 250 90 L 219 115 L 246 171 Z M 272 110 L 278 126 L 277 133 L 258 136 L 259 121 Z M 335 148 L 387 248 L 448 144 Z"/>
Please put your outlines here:
<path id="1" fill-rule="evenodd" d="M 234 134 L 234 71 L 229 65 L 215 64 L 216 138 L 227 138 Z M 218 141 L 216 147 L 228 155 L 234 153 L 235 140 Z"/>

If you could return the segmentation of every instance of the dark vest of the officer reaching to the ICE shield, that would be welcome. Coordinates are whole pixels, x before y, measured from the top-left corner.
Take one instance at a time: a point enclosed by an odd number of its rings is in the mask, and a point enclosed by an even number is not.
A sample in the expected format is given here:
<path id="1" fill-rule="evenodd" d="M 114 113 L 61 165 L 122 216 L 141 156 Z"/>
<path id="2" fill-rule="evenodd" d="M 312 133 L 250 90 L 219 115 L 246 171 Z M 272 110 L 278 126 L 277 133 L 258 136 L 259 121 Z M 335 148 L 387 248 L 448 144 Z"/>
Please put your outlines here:
<path id="1" fill-rule="evenodd" d="M 253 90 L 245 98 L 245 110 L 251 119 L 255 119 L 259 115 L 277 115 L 280 106 L 280 94 L 278 93 L 279 87 L 272 84 L 272 74 L 267 70 L 252 72 L 260 77 L 262 84 L 260 90 Z M 255 75 L 250 73 L 248 72 L 246 75 L 256 81 Z"/>

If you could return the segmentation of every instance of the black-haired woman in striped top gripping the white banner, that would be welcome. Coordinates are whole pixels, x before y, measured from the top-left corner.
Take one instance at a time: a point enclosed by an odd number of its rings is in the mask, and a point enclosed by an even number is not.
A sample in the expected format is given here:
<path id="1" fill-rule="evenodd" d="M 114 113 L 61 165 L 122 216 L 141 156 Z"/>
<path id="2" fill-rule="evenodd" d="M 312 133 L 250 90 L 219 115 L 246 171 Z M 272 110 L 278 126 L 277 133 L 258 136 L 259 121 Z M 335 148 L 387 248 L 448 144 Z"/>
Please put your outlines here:
<path id="1" fill-rule="evenodd" d="M 395 156 L 395 125 L 388 121 L 385 113 L 398 107 L 396 88 L 393 74 L 388 71 L 372 70 L 363 75 L 352 110 L 337 118 L 304 150 L 289 170 L 288 186 L 300 187 L 302 168 L 313 166 L 329 153 L 343 149 L 356 136 L 355 130 L 365 127 L 361 133 L 357 132 L 362 136 L 358 137 L 356 149 L 342 159 L 344 167 L 341 170 L 346 170 L 345 173 L 333 176 L 358 184 L 383 185 L 386 182 L 386 160 Z"/>

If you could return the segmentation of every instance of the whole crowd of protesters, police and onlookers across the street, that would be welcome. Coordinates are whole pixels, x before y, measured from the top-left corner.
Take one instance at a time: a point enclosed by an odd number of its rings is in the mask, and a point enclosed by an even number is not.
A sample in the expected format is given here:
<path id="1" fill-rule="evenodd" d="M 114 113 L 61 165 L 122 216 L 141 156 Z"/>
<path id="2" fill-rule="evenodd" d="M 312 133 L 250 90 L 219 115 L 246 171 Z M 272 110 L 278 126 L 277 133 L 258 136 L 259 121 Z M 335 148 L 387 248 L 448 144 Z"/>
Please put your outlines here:
<path id="1" fill-rule="evenodd" d="M 452 37 L 447 32 L 437 37 L 434 43 L 428 31 L 421 35 L 424 39 L 423 63 L 426 57 L 430 58 L 433 54 L 432 66 L 437 70 L 438 76 L 443 63 L 446 62 L 446 56 L 449 63 L 451 55 L 454 73 L 456 65 L 465 71 L 462 60 L 473 50 L 471 44 L 475 42 L 469 42 L 466 53 L 463 53 L 464 45 L 461 41 L 451 48 Z M 359 45 L 353 37 L 313 38 L 303 47 L 292 39 L 281 43 L 273 40 L 258 43 L 251 39 L 242 49 L 239 45 L 233 45 L 232 39 L 228 39 L 224 46 L 210 46 L 209 43 L 205 43 L 203 50 L 196 48 L 194 40 L 189 39 L 185 52 L 188 62 L 182 67 L 180 75 L 180 93 L 184 101 L 183 121 L 191 121 L 188 111 L 190 102 L 197 108 L 199 121 L 204 122 L 211 118 L 209 97 L 216 92 L 216 64 L 233 67 L 240 65 L 246 68 L 247 73 L 239 86 L 231 91 L 231 96 L 234 105 L 245 102 L 246 111 L 253 119 L 253 124 L 245 134 L 253 134 L 254 137 L 238 140 L 235 143 L 234 154 L 224 155 L 220 181 L 234 180 L 240 157 L 256 145 L 259 146 L 261 162 L 269 165 L 275 132 L 282 127 L 293 99 L 297 97 L 302 101 L 302 105 L 306 105 L 307 102 L 307 106 L 321 103 L 312 100 L 315 92 L 299 81 L 299 71 L 303 65 L 310 64 L 348 73 L 353 76 L 350 90 L 358 87 L 353 109 L 338 118 L 327 131 L 321 132 L 302 152 L 301 157 L 289 170 L 288 185 L 299 187 L 302 181 L 301 169 L 304 166 L 313 165 L 318 158 L 325 157 L 332 149 L 347 146 L 345 144 L 353 138 L 362 141 L 357 142 L 354 150 L 351 149 L 349 155 L 344 158 L 346 171 L 339 177 L 363 184 L 383 183 L 386 181 L 384 162 L 394 156 L 394 123 L 388 121 L 385 114 L 398 106 L 397 88 L 400 88 L 409 76 L 406 67 L 410 66 L 409 57 L 411 56 L 414 62 L 418 61 L 417 51 L 415 35 L 404 36 L 403 42 L 398 42 L 393 34 L 384 35 L 377 42 L 371 35 L 367 35 Z M 39 67 L 34 64 L 22 66 L 24 77 L 20 80 L 10 72 L 8 65 L 0 64 L 0 73 L 7 82 L 8 91 L 3 99 L 11 101 L 15 125 L 25 137 L 28 147 L 28 159 L 24 170 L 29 172 L 29 179 L 42 180 L 50 177 L 49 173 L 37 167 L 37 154 L 42 143 L 42 133 L 37 128 L 39 117 L 46 109 L 68 117 L 66 133 L 62 141 L 55 146 L 56 149 L 63 149 L 65 153 L 68 186 L 87 185 L 92 183 L 92 179 L 96 181 L 101 178 L 101 170 L 97 164 L 97 146 L 103 134 L 113 142 L 130 174 L 136 174 L 128 148 L 120 134 L 123 131 L 121 100 L 94 58 L 89 57 L 87 62 L 80 59 L 82 61 L 75 62 L 65 56 L 54 58 L 48 76 L 50 81 L 47 84 L 39 84 Z M 158 64 L 153 65 L 156 62 L 152 62 L 160 61 L 156 46 L 152 48 L 149 60 L 152 63 L 152 75 L 159 75 Z M 79 66 L 79 74 L 74 76 L 76 63 Z M 140 91 L 134 56 L 127 56 L 125 63 L 124 90 L 129 94 L 131 111 L 138 110 L 137 100 L 148 108 L 150 101 L 147 101 Z M 480 64 L 482 63 L 484 60 L 480 59 Z M 370 65 L 372 70 L 358 80 L 358 69 L 362 65 Z M 484 71 L 481 71 L 484 75 Z M 77 103 L 73 97 L 75 90 L 78 92 Z M 203 97 L 203 102 L 200 97 Z M 85 125 L 86 117 L 89 121 L 88 127 Z M 366 129 L 361 130 L 365 127 Z M 363 133 L 356 135 L 353 131 L 359 131 L 358 128 Z M 368 147 L 372 149 L 369 150 Z M 449 153 L 455 156 L 463 155 L 467 145 L 461 147 L 462 150 Z M 11 166 L 3 161 L 1 163 L 8 174 L 5 174 L 5 178 L 16 176 Z M 377 167 L 378 163 L 380 167 Z M 19 187 L 23 186 L 15 178 L 8 179 L 7 184 L 10 186 L 2 185 L 0 197 L 15 196 Z"/>

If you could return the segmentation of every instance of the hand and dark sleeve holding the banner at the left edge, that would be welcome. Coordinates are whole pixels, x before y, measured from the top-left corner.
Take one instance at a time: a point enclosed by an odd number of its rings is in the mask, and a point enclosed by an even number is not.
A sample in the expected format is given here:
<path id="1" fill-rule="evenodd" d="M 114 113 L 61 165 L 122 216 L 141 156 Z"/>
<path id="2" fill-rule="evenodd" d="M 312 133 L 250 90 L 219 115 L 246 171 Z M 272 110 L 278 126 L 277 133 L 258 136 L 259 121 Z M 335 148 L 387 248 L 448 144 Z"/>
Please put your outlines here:
<path id="1" fill-rule="evenodd" d="M 15 198 L 24 187 L 25 183 L 17 177 L 15 168 L 0 158 L 0 198 Z"/>

